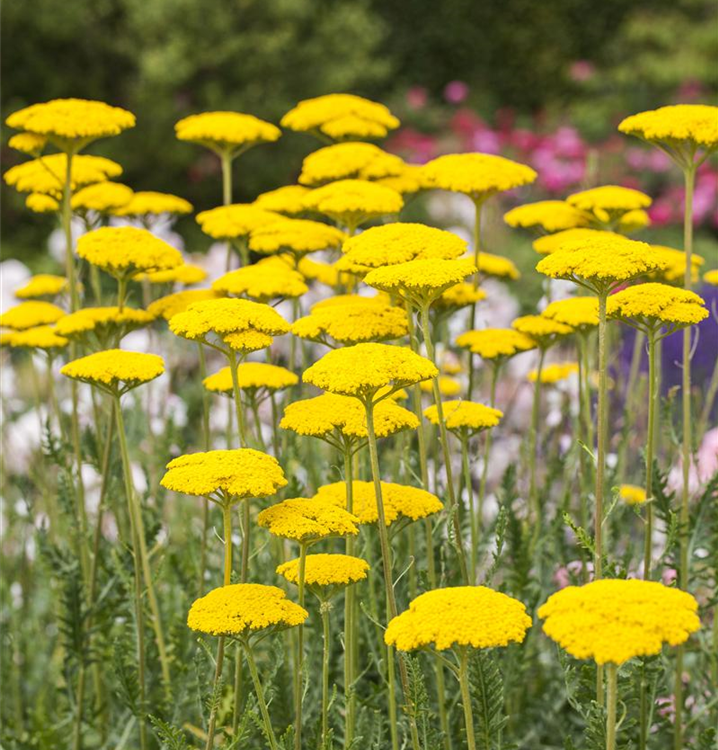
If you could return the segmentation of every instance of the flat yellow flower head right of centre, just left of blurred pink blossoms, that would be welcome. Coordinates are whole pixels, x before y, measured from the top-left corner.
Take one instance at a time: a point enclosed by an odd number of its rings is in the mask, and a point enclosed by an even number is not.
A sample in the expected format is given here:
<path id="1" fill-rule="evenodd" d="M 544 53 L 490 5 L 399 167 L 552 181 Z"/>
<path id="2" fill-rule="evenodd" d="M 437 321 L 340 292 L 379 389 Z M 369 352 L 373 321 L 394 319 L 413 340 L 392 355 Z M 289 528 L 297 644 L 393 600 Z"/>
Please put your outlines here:
<path id="1" fill-rule="evenodd" d="M 531 167 L 491 154 L 447 154 L 425 164 L 421 174 L 425 188 L 463 193 L 474 201 L 536 179 Z"/>

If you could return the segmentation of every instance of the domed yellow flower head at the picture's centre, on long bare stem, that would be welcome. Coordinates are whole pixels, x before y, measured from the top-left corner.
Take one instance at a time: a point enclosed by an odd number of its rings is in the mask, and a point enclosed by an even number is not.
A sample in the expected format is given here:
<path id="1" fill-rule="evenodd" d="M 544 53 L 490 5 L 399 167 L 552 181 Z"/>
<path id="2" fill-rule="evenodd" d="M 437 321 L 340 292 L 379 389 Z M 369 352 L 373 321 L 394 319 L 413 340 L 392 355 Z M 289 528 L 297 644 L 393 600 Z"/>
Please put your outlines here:
<path id="1" fill-rule="evenodd" d="M 304 382 L 330 393 L 373 399 L 379 388 L 402 388 L 438 374 L 432 362 L 411 349 L 357 344 L 328 352 L 303 377 Z"/>

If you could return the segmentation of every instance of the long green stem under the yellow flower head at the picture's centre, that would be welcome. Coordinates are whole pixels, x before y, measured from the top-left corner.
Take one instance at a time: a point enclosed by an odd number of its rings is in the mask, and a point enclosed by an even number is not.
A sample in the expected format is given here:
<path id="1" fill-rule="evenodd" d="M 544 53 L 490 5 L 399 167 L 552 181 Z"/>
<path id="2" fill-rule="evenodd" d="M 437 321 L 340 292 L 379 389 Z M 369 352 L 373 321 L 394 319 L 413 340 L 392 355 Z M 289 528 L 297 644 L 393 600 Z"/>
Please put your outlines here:
<path id="1" fill-rule="evenodd" d="M 374 494 L 376 495 L 376 507 L 377 507 L 377 531 L 379 534 L 379 546 L 381 548 L 381 559 L 382 568 L 384 571 L 384 587 L 386 588 L 386 601 L 387 608 L 389 610 L 388 619 L 392 619 L 397 616 L 398 610 L 396 607 L 396 598 L 394 596 L 394 582 L 392 575 L 392 562 L 391 562 L 391 547 L 389 546 L 389 535 L 386 531 L 386 515 L 384 513 L 384 500 L 381 491 L 381 474 L 379 473 L 379 452 L 376 447 L 376 432 L 374 431 L 374 403 L 371 397 L 368 397 L 364 406 L 366 408 L 366 426 L 369 439 L 369 459 L 371 462 L 371 473 L 374 481 Z M 392 649 L 387 648 L 387 667 L 389 668 L 389 675 L 393 671 L 393 658 Z M 401 677 L 401 685 L 404 691 L 404 699 L 407 701 L 407 712 L 409 715 L 409 726 L 411 731 L 411 745 L 413 750 L 420 750 L 419 744 L 419 732 L 416 727 L 416 720 L 414 718 L 413 708 L 408 706 L 410 700 L 409 692 L 409 677 L 406 671 L 406 664 L 404 659 L 399 656 L 399 674 Z M 389 701 L 390 706 L 396 705 L 396 696 L 392 690 L 392 683 L 389 682 Z"/>

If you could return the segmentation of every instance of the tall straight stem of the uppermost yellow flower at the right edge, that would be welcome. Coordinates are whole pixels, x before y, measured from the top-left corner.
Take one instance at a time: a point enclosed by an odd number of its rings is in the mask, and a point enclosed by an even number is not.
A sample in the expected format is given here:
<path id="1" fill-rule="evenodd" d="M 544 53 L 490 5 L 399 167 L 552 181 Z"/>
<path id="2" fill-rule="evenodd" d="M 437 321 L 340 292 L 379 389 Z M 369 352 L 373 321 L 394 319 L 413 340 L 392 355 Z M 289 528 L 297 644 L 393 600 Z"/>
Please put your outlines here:
<path id="1" fill-rule="evenodd" d="M 693 189 L 696 181 L 696 167 L 691 157 L 690 164 L 683 170 L 685 180 L 685 208 L 683 216 L 683 251 L 686 255 L 686 270 L 683 286 L 690 290 L 693 279 Z M 688 590 L 688 500 L 690 489 L 691 457 L 693 455 L 693 436 L 691 423 L 691 328 L 683 330 L 683 382 L 681 386 L 683 400 L 683 492 L 681 493 L 680 513 L 680 568 L 678 583 L 684 591 Z M 673 686 L 675 696 L 676 718 L 674 748 L 683 747 L 683 655 L 685 647 L 679 646 L 676 653 L 676 679 Z"/>

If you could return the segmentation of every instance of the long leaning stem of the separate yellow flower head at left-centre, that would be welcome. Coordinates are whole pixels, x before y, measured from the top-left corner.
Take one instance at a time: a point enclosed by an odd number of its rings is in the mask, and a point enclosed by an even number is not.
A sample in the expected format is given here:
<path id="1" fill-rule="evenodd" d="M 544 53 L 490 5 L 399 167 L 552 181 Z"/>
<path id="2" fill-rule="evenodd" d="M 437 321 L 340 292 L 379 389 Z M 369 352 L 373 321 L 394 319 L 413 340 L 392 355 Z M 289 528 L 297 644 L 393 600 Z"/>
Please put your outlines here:
<path id="1" fill-rule="evenodd" d="M 150 569 L 150 558 L 147 552 L 147 541 L 145 539 L 145 524 L 142 520 L 142 510 L 134 490 L 132 482 L 132 469 L 130 465 L 130 453 L 127 448 L 127 433 L 125 432 L 125 422 L 122 417 L 122 408 L 120 406 L 119 394 L 115 394 L 115 416 L 117 419 L 117 434 L 120 440 L 120 451 L 122 454 L 122 466 L 125 472 L 125 489 L 127 492 L 128 513 L 130 516 L 131 527 L 134 525 L 135 540 L 133 542 L 133 552 L 135 562 L 139 555 L 139 564 L 141 566 L 142 576 L 144 577 L 145 587 L 147 588 L 147 598 L 150 604 L 150 613 L 152 614 L 152 629 L 155 633 L 157 642 L 157 652 L 160 658 L 162 669 L 162 683 L 165 693 L 169 698 L 171 695 L 170 667 L 167 656 L 167 646 L 165 645 L 164 632 L 162 631 L 162 620 L 160 617 L 160 608 L 155 593 L 154 580 Z M 135 543 L 137 546 L 134 546 Z"/>

